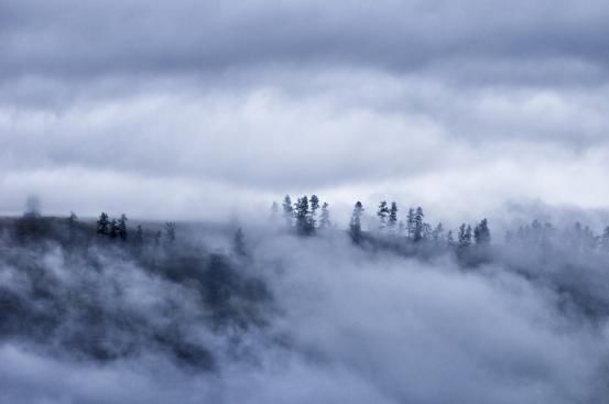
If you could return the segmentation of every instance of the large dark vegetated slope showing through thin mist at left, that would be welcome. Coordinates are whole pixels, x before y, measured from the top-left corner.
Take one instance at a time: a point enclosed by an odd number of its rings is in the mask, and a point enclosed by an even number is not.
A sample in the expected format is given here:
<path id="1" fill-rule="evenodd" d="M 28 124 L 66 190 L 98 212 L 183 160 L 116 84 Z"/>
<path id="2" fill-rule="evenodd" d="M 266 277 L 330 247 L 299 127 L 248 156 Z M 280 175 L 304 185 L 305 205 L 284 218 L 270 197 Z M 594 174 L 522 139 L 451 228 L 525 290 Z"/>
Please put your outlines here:
<path id="1" fill-rule="evenodd" d="M 241 232 L 233 252 L 218 252 L 181 239 L 174 222 L 127 223 L 106 214 L 96 223 L 37 211 L 1 219 L 0 269 L 13 279 L 0 282 L 0 338 L 101 362 L 161 351 L 208 370 L 215 352 L 198 331 L 238 343 L 240 332 L 264 326 L 272 299 L 246 270 Z M 139 282 L 151 295 L 130 296 Z"/>

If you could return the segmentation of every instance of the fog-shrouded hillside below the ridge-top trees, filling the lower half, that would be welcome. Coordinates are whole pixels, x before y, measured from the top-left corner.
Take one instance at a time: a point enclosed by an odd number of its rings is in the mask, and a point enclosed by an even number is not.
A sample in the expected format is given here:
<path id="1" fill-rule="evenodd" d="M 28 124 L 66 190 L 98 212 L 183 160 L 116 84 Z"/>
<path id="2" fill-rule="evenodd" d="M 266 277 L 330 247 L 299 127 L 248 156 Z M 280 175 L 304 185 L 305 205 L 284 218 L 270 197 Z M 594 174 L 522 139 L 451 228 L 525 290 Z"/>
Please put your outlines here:
<path id="1" fill-rule="evenodd" d="M 608 393 L 609 255 L 574 244 L 569 228 L 537 243 L 533 223 L 511 243 L 498 234 L 461 248 L 242 223 L 241 251 L 232 226 L 183 223 L 175 243 L 155 244 L 160 225 L 144 223 L 143 245 L 132 231 L 122 241 L 78 226 L 75 241 L 55 219 L 4 222 L 2 402 L 601 403 Z"/>

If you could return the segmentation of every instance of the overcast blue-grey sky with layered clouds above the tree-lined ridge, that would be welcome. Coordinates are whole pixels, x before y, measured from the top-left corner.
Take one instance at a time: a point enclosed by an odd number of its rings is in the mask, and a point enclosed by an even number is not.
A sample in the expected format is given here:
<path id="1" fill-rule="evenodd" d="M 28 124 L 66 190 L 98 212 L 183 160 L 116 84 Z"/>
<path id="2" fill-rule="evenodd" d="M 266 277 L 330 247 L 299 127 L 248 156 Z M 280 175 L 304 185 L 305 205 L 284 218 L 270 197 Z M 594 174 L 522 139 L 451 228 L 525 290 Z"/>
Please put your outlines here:
<path id="1" fill-rule="evenodd" d="M 0 0 L 0 212 L 601 209 L 607 21 L 596 0 Z"/>

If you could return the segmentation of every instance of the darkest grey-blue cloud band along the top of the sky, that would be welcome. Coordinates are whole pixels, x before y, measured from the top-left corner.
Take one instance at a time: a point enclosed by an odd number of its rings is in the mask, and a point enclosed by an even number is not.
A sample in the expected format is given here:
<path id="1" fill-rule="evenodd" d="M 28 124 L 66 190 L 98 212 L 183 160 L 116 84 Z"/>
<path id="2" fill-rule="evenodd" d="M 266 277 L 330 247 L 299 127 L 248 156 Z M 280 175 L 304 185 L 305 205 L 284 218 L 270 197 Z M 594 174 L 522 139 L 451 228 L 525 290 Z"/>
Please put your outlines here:
<path id="1" fill-rule="evenodd" d="M 594 77 L 605 74 L 609 33 L 609 11 L 598 1 L 2 1 L 0 12 L 4 79 L 172 75 L 273 63 L 409 72 L 455 62 L 472 63 L 476 75 L 501 77 L 493 72 L 497 61 L 508 70 L 530 65 L 519 72 L 524 78 L 547 79 L 537 73 L 547 61 L 577 62 Z M 556 80 L 579 81 L 577 74 L 554 73 Z"/>

